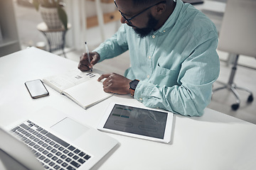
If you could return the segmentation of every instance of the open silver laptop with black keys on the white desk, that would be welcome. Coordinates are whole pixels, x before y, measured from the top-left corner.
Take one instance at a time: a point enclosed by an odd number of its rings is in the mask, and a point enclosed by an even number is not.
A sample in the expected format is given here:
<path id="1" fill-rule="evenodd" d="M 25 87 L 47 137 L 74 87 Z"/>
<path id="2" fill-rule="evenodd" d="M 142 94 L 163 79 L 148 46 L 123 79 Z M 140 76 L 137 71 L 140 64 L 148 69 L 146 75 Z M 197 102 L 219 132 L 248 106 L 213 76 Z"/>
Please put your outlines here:
<path id="1" fill-rule="evenodd" d="M 91 169 L 117 140 L 43 108 L 14 125 L 0 128 L 0 169 Z"/>

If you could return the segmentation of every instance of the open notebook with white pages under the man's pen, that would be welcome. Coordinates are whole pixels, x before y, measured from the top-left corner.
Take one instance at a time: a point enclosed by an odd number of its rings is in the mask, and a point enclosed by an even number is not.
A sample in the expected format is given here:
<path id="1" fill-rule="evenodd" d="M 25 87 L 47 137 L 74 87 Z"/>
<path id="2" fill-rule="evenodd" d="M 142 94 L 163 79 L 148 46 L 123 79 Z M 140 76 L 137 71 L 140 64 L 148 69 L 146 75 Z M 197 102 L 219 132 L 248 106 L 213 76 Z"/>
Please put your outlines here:
<path id="1" fill-rule="evenodd" d="M 90 108 L 113 94 L 103 91 L 100 74 L 72 69 L 63 74 L 46 77 L 43 83 L 70 98 L 82 108 Z"/>

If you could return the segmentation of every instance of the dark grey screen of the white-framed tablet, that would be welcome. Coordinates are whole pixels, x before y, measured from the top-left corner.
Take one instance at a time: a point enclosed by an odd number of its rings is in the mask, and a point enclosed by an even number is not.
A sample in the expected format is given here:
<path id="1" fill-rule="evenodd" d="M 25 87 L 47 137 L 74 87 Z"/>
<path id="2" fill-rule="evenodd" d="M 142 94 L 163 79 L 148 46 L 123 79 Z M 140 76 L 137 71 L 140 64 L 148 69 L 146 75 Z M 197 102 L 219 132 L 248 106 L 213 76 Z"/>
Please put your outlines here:
<path id="1" fill-rule="evenodd" d="M 103 128 L 164 139 L 168 113 L 115 104 Z"/>

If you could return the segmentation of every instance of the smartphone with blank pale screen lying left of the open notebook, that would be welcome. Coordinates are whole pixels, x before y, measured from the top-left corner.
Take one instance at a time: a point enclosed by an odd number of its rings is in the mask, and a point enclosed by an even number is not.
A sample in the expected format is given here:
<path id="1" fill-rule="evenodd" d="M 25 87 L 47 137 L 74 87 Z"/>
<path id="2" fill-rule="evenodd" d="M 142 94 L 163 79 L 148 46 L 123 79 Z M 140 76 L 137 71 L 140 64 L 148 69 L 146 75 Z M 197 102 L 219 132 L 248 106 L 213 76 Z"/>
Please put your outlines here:
<path id="1" fill-rule="evenodd" d="M 32 98 L 40 98 L 49 95 L 46 86 L 43 85 L 40 79 L 26 81 L 25 85 Z"/>

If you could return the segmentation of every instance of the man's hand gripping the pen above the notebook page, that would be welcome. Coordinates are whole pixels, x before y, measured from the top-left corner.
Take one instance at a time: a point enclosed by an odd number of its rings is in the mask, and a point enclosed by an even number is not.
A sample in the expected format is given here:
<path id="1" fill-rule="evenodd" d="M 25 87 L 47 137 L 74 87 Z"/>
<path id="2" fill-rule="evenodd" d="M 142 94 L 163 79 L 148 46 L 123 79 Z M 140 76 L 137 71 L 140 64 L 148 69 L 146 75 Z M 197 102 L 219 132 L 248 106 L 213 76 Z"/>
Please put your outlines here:
<path id="1" fill-rule="evenodd" d="M 87 53 L 82 53 L 80 56 L 78 69 L 80 69 L 82 72 L 91 69 L 100 60 L 100 55 L 97 52 L 89 52 L 89 55 L 91 62 L 88 60 Z"/>

